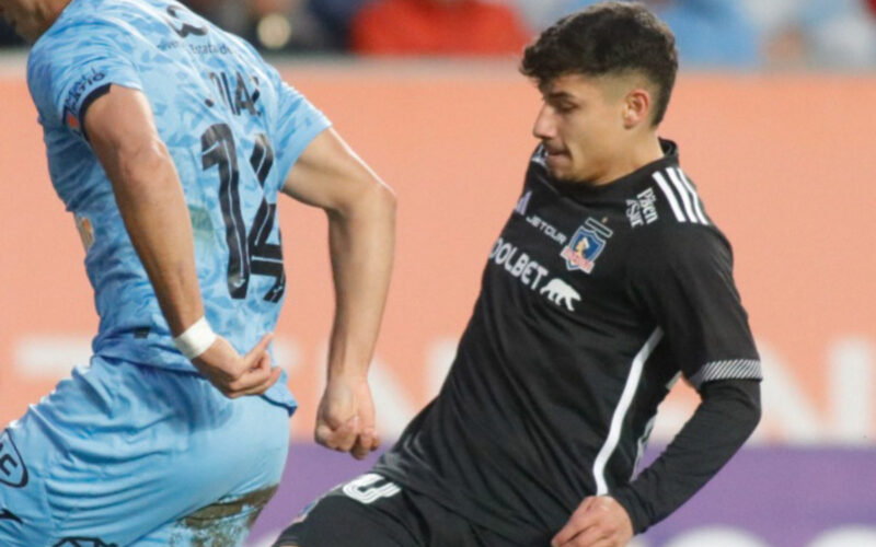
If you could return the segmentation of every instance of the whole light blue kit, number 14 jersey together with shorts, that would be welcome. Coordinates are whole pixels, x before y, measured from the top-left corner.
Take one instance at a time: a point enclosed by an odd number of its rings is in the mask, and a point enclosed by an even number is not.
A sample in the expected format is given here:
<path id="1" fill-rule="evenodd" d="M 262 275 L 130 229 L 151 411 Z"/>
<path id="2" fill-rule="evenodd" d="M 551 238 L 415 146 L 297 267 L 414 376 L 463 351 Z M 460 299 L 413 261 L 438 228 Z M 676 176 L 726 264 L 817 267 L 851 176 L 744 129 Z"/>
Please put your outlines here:
<path id="1" fill-rule="evenodd" d="M 0 432 L 0 546 L 240 546 L 279 482 L 295 399 L 284 381 L 229 399 L 175 349 L 83 115 L 111 84 L 148 98 L 207 318 L 241 352 L 274 330 L 277 194 L 328 121 L 249 45 L 168 0 L 72 0 L 27 80 L 101 325 L 90 364 Z"/>

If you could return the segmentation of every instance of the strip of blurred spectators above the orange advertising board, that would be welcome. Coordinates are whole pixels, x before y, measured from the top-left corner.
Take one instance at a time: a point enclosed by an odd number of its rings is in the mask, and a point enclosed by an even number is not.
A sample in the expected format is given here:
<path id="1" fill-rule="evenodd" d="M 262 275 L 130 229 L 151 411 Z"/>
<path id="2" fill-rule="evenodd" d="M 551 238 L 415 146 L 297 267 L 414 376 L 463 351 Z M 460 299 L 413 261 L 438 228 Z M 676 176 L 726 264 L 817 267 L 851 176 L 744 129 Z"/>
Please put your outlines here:
<path id="1" fill-rule="evenodd" d="M 643 1 L 676 33 L 684 68 L 876 67 L 876 0 Z M 500 55 L 597 0 L 184 2 L 261 49 Z M 0 46 L 10 45 L 24 42 L 0 22 Z"/>

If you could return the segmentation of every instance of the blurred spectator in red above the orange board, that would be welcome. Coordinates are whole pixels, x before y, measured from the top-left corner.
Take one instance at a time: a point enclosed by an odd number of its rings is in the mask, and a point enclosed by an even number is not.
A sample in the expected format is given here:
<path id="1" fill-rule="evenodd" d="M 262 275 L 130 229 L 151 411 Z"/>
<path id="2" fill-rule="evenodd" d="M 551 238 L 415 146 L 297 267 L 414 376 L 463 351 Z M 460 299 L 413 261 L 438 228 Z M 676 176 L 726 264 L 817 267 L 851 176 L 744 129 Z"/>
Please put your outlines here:
<path id="1" fill-rule="evenodd" d="M 519 54 L 530 33 L 482 0 L 377 0 L 354 19 L 353 49 L 377 55 Z"/>

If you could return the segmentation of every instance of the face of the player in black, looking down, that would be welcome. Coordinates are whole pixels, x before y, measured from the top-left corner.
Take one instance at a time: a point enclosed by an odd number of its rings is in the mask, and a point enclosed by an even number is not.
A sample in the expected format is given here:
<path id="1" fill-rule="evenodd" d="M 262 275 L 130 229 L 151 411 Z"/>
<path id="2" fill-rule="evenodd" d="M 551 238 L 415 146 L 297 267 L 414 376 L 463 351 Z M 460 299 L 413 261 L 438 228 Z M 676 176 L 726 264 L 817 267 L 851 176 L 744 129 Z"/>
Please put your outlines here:
<path id="1" fill-rule="evenodd" d="M 532 133 L 560 181 L 608 183 L 630 146 L 624 127 L 625 79 L 565 74 L 539 89 L 544 105 Z M 608 179 L 606 179 L 608 177 Z"/>

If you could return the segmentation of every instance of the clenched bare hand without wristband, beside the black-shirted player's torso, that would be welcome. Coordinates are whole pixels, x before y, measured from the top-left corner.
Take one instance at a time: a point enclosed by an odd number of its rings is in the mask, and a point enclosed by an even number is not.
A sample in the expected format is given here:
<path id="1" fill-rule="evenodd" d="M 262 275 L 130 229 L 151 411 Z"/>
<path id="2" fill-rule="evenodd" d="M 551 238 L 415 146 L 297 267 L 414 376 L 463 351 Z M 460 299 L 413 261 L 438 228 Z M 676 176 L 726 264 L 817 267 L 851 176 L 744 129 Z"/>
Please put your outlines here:
<path id="1" fill-rule="evenodd" d="M 341 375 L 328 380 L 316 410 L 314 439 L 327 449 L 349 452 L 356 459 L 380 446 L 366 377 Z"/>

